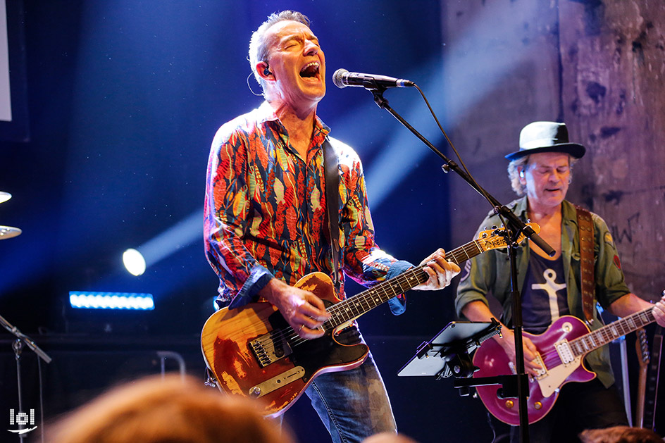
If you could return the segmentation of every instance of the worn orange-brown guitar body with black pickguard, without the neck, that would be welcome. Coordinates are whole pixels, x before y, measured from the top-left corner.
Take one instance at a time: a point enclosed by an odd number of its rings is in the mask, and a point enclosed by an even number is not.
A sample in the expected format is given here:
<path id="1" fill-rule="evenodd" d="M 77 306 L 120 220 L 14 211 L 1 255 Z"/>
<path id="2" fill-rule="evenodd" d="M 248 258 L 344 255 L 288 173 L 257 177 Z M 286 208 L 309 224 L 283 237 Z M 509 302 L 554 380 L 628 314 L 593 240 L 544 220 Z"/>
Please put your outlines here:
<path id="1" fill-rule="evenodd" d="M 306 275 L 296 287 L 313 292 L 323 299 L 326 307 L 340 302 L 334 295 L 333 282 L 323 273 Z M 299 346 L 292 346 L 292 340 L 277 332 L 287 326 L 277 309 L 267 302 L 233 310 L 223 308 L 214 313 L 201 332 L 201 350 L 219 389 L 257 398 L 263 401 L 267 416 L 278 416 L 300 397 L 317 375 L 355 368 L 367 358 L 365 344 L 337 343 L 334 331 L 312 340 L 292 337 L 299 342 Z M 251 346 L 253 340 L 262 336 L 268 339 L 264 350 L 276 357 L 267 366 L 261 365 L 257 351 Z M 285 355 L 281 358 L 280 347 Z M 261 350 L 258 351 L 260 354 Z"/>

